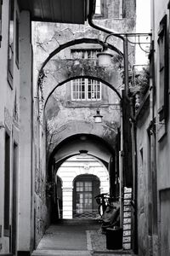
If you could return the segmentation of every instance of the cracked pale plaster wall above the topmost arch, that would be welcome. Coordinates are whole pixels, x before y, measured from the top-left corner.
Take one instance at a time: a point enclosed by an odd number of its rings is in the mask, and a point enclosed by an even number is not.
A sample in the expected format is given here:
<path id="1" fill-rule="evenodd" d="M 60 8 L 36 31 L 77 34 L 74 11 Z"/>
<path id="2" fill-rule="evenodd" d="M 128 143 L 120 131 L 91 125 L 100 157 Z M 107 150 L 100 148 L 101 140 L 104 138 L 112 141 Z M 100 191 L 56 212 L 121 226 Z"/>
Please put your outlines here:
<path id="1" fill-rule="evenodd" d="M 113 4 L 113 2 L 112 2 Z M 130 9 L 130 8 L 129 8 Z M 109 19 L 95 20 L 100 26 L 111 28 L 116 32 L 134 32 L 135 31 L 135 9 L 130 9 L 133 15 L 124 19 L 113 19 L 111 16 Z M 42 62 L 48 57 L 48 55 L 57 49 L 60 44 L 65 44 L 71 40 L 78 38 L 99 38 L 105 40 L 107 34 L 99 32 L 93 29 L 86 23 L 86 25 L 71 25 L 71 24 L 52 24 L 52 23 L 33 23 L 34 27 L 34 47 L 36 49 L 37 68 L 39 69 Z M 111 37 L 109 40 L 111 44 L 114 44 L 118 49 L 122 50 L 122 41 L 119 38 Z M 65 50 L 65 54 L 62 53 L 55 55 L 53 58 L 58 59 L 68 58 L 69 51 Z"/>

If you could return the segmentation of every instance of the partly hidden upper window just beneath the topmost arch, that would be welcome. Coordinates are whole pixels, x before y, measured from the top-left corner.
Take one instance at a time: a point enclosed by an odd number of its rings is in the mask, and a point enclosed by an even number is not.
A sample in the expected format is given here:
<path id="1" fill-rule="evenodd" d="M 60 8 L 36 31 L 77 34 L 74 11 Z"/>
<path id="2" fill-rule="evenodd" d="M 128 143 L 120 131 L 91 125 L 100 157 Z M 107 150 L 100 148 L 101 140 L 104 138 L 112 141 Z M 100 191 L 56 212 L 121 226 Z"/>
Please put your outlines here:
<path id="1" fill-rule="evenodd" d="M 101 49 L 71 49 L 71 59 L 95 59 Z"/>

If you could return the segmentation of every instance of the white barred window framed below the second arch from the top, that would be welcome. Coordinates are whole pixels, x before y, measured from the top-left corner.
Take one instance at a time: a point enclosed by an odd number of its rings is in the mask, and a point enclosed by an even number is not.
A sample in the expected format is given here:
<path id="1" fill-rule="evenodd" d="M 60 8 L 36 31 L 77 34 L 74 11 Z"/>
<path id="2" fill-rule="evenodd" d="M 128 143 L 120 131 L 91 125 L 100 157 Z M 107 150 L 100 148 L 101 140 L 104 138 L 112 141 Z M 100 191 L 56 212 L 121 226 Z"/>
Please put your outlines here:
<path id="1" fill-rule="evenodd" d="M 101 83 L 94 79 L 71 81 L 71 101 L 100 101 Z"/>

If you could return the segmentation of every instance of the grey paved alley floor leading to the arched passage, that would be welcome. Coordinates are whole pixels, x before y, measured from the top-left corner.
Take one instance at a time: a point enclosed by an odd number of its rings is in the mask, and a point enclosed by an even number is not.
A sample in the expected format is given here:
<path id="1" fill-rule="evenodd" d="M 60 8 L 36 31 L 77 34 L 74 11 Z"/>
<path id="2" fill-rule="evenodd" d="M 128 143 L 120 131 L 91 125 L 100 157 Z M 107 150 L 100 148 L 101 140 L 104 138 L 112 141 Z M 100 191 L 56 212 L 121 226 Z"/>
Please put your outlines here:
<path id="1" fill-rule="evenodd" d="M 64 222 L 51 225 L 32 256 L 114 256 L 133 253 L 108 250 L 97 222 Z"/>

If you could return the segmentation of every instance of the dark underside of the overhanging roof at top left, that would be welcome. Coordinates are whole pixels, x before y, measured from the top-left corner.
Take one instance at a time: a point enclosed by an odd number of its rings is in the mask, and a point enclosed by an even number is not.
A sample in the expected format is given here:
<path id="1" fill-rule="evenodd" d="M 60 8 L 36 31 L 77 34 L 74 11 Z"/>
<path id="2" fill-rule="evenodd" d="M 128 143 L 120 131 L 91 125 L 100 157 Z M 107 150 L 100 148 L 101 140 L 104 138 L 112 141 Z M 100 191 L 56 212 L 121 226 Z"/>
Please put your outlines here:
<path id="1" fill-rule="evenodd" d="M 89 0 L 19 0 L 20 10 L 29 10 L 31 20 L 83 24 Z"/>

